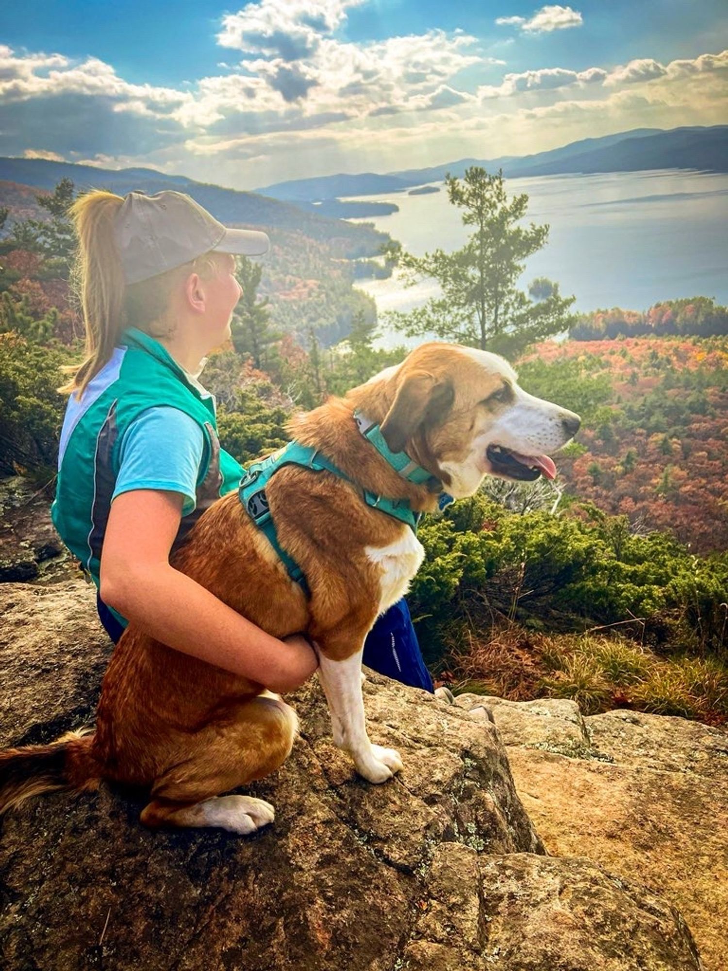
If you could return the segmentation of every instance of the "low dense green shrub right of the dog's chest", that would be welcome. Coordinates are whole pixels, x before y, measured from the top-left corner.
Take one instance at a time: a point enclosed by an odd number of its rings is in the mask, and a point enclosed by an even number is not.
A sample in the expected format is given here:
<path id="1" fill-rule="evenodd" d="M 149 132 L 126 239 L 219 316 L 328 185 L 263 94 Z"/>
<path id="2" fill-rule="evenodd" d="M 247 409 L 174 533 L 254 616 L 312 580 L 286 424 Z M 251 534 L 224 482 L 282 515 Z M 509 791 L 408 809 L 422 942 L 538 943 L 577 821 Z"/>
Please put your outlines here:
<path id="1" fill-rule="evenodd" d="M 502 616 L 546 629 L 627 623 L 653 647 L 728 650 L 728 556 L 695 556 L 664 533 L 633 535 L 624 517 L 579 504 L 561 516 L 514 515 L 479 494 L 425 519 L 420 539 L 414 615 L 429 618 L 423 635 L 441 647 L 448 624 Z M 639 670 L 639 657 L 632 662 Z M 617 671 L 618 659 L 610 663 Z"/>

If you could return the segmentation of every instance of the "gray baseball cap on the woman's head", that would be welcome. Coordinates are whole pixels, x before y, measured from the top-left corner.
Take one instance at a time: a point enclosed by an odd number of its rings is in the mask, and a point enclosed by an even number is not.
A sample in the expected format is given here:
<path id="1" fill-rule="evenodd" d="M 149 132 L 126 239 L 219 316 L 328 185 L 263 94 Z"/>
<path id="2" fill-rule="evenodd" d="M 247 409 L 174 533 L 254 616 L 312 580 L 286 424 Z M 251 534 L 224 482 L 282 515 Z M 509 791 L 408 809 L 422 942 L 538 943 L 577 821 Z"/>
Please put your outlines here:
<path id="1" fill-rule="evenodd" d="M 254 229 L 228 229 L 183 192 L 129 192 L 116 214 L 116 249 L 124 280 L 138 284 L 204 252 L 262 256 L 270 241 Z"/>

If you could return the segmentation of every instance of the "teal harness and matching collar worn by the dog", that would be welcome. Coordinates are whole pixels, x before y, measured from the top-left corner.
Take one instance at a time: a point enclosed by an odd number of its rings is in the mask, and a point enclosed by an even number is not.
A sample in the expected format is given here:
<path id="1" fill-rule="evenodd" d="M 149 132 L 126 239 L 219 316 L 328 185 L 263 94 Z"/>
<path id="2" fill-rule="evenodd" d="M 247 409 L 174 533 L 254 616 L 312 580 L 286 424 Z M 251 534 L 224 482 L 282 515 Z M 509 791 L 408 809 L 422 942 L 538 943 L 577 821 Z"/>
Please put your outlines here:
<path id="1" fill-rule="evenodd" d="M 431 475 L 431 473 L 423 469 L 420 465 L 417 465 L 407 452 L 391 452 L 381 434 L 380 426 L 375 424 L 374 421 L 364 418 L 358 412 L 354 413 L 354 420 L 361 434 L 372 443 L 375 449 L 380 452 L 389 465 L 403 479 L 415 485 L 428 484 L 433 491 L 441 492 L 441 508 L 447 505 L 447 502 L 445 504 L 443 503 L 443 497 L 446 497 L 447 493 L 442 492 L 443 485 L 439 479 Z M 268 485 L 271 478 L 284 465 L 299 465 L 302 468 L 311 469 L 313 472 L 331 472 L 345 482 L 351 483 L 352 485 L 356 484 L 345 472 L 342 472 L 338 466 L 334 465 L 333 462 L 329 461 L 328 458 L 320 454 L 316 449 L 311 446 L 301 445 L 300 442 L 296 441 L 289 442 L 282 449 L 279 449 L 278 452 L 273 452 L 272 455 L 268 455 L 267 458 L 253 462 L 241 480 L 239 496 L 248 516 L 262 530 L 273 549 L 281 557 L 283 565 L 288 571 L 288 576 L 292 581 L 299 584 L 308 596 L 310 591 L 303 570 L 282 549 L 278 541 L 276 523 L 271 516 L 270 509 L 268 508 L 268 499 L 265 494 L 266 485 Z M 381 513 L 385 513 L 393 519 L 399 519 L 401 522 L 406 523 L 416 535 L 417 525 L 422 514 L 414 512 L 409 499 L 389 499 L 364 488 L 361 489 L 361 494 L 364 502 L 372 509 L 378 509 Z M 452 501 L 449 496 L 447 496 L 447 499 L 450 502 Z"/>

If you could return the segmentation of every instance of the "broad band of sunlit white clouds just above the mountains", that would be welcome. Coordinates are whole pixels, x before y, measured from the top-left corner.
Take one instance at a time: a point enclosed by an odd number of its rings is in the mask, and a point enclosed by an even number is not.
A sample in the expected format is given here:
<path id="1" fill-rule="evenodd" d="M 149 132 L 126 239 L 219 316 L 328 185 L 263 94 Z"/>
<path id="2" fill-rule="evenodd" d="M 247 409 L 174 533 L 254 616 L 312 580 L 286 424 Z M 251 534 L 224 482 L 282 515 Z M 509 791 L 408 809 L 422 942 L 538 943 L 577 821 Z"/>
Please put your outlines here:
<path id="1" fill-rule="evenodd" d="M 354 44 L 340 33 L 352 6 L 310 0 L 307 15 L 303 0 L 263 0 L 254 10 L 269 26 L 279 11 L 289 36 L 300 28 L 303 55 L 284 57 L 265 24 L 253 44 L 231 20 L 240 62 L 228 57 L 219 75 L 180 89 L 130 84 L 94 57 L 0 46 L 0 153 L 147 164 L 249 188 L 479 156 L 484 144 L 494 156 L 631 127 L 716 124 L 728 111 L 728 51 L 511 72 L 474 94 L 459 72 L 496 63 L 476 38 L 433 30 Z"/>

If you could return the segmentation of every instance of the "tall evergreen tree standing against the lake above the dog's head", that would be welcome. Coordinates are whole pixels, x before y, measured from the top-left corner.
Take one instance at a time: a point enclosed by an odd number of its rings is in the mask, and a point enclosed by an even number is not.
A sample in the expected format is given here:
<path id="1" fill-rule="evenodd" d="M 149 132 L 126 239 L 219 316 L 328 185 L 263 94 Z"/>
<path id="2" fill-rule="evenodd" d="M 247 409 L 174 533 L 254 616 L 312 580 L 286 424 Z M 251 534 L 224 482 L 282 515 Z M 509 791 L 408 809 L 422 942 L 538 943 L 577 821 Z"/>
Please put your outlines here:
<path id="1" fill-rule="evenodd" d="M 514 355 L 528 344 L 566 330 L 574 297 L 561 297 L 557 284 L 540 278 L 527 295 L 516 287 L 525 260 L 546 244 L 548 226 L 521 224 L 525 193 L 509 199 L 503 173 L 474 166 L 463 180 L 447 176 L 447 198 L 463 211 L 473 232 L 465 246 L 414 256 L 399 252 L 408 283 L 430 278 L 441 294 L 410 313 L 392 314 L 411 337 L 436 334 L 473 347 Z M 391 254 L 390 254 L 391 255 Z"/>

